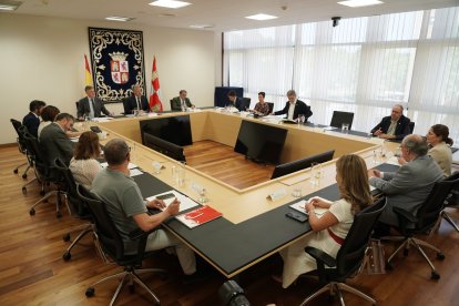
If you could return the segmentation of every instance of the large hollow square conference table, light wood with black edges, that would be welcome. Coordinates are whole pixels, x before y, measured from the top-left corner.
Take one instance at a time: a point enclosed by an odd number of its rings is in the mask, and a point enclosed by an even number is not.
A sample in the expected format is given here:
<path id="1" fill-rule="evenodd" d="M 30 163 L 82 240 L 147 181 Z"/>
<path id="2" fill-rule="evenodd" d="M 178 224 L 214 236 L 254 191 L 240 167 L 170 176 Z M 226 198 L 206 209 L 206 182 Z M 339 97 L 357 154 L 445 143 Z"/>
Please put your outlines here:
<path id="1" fill-rule="evenodd" d="M 335 156 L 333 161 L 322 165 L 318 184 L 309 182 L 310 169 L 307 169 L 239 190 L 186 165 L 185 182 L 177 185 L 172 174 L 172 167 L 177 166 L 177 162 L 142 145 L 140 121 L 183 115 L 190 116 L 193 142 L 211 140 L 234 147 L 242 121 L 251 120 L 288 130 L 280 155 L 282 163 L 332 149 L 335 150 Z M 355 153 L 365 159 L 368 167 L 379 166 L 384 171 L 389 171 L 394 165 L 385 162 L 399 145 L 368 137 L 367 133 L 328 131 L 306 124 L 285 124 L 276 118 L 254 119 L 245 113 L 224 113 L 220 110 L 150 114 L 94 124 L 108 132 L 106 140 L 101 141 L 102 144 L 113 137 L 123 137 L 131 146 L 131 162 L 139 165 L 143 172 L 133 177 L 143 197 L 175 190 L 198 202 L 200 195 L 192 185 L 197 184 L 207 191 L 206 204 L 221 212 L 222 217 L 194 228 L 188 228 L 171 217 L 163 226 L 227 278 L 236 276 L 312 233 L 308 223 L 293 221 L 285 214 L 292 211 L 289 204 L 315 195 L 328 200 L 339 198 L 335 181 L 335 162 L 339 156 Z M 155 174 L 155 165 L 159 163 L 163 169 Z M 300 190 L 303 196 L 294 197 L 294 190 Z M 269 195 L 274 194 L 280 196 L 274 196 L 272 200 Z"/>

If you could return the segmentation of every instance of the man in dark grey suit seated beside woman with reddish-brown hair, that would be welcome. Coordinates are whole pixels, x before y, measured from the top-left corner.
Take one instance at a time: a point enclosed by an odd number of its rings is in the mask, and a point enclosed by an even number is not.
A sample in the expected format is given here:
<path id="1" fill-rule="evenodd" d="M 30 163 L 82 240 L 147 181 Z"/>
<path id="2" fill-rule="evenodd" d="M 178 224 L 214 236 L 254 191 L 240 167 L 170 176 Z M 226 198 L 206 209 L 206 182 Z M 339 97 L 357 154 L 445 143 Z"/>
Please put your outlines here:
<path id="1" fill-rule="evenodd" d="M 57 157 L 61 159 L 67 165 L 73 156 L 75 143 L 65 134 L 72 129 L 74 118 L 68 113 L 60 113 L 53 123 L 47 125 L 40 134 L 40 145 L 47 163 L 52 165 Z"/>

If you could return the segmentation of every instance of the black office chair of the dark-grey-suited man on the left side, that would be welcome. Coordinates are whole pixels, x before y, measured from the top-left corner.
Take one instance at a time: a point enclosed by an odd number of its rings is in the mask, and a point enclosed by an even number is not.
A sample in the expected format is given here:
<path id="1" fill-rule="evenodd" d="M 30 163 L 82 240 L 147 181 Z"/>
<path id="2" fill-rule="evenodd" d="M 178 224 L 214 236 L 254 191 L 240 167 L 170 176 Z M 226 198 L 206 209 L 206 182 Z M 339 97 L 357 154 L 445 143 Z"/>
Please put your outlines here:
<path id="1" fill-rule="evenodd" d="M 27 144 L 27 150 L 30 152 L 30 156 L 33 162 L 33 169 L 35 171 L 37 180 L 41 183 L 41 192 L 40 195 L 43 195 L 42 198 L 37 201 L 29 211 L 29 214 L 33 216 L 35 214 L 35 207 L 41 203 L 48 202 L 48 198 L 55 195 L 55 216 L 61 217 L 61 196 L 64 194 L 62 191 L 62 177 L 59 173 L 53 169 L 53 166 L 49 166 L 45 163 L 44 157 L 42 156 L 42 152 L 40 149 L 40 144 L 38 140 L 32 136 L 30 133 L 24 134 L 24 140 Z M 58 186 L 57 191 L 50 191 L 48 193 L 44 192 L 44 187 L 50 184 L 55 184 Z M 27 192 L 27 191 L 26 191 Z M 26 194 L 26 193 L 24 193 Z"/>

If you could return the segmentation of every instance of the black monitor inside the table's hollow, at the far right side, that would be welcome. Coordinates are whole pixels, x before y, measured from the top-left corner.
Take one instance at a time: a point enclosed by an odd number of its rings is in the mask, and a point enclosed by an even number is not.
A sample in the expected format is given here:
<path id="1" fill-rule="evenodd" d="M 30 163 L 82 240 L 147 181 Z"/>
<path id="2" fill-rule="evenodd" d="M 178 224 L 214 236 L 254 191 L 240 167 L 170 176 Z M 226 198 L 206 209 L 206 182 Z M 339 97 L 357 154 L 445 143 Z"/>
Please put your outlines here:
<path id="1" fill-rule="evenodd" d="M 277 164 L 287 130 L 243 120 L 234 151 L 255 162 Z"/>

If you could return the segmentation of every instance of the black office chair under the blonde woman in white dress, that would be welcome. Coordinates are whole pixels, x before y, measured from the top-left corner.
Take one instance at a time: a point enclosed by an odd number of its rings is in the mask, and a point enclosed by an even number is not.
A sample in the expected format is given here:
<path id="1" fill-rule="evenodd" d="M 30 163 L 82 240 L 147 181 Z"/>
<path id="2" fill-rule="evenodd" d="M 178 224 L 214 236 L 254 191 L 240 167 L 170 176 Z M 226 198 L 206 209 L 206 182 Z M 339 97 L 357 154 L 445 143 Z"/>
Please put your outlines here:
<path id="1" fill-rule="evenodd" d="M 350 226 L 350 230 L 347 233 L 338 254 L 336 255 L 336 259 L 315 247 L 305 247 L 305 252 L 313 256 L 317 262 L 316 272 L 318 274 L 319 282 L 324 284 L 324 287 L 306 297 L 300 304 L 302 306 L 306 305 L 325 292 L 330 292 L 332 296 L 336 294 L 339 297 L 341 305 L 345 305 L 341 290 L 358 295 L 359 297 L 370 302 L 373 305 L 376 305 L 376 300 L 374 298 L 345 284 L 345 280 L 346 278 L 355 276 L 359 272 L 364 263 L 365 253 L 368 247 L 373 228 L 375 227 L 375 224 L 385 206 L 386 198 L 382 197 L 354 216 L 353 225 Z M 327 268 L 325 266 L 327 266 Z"/>

